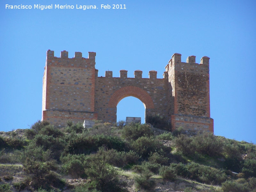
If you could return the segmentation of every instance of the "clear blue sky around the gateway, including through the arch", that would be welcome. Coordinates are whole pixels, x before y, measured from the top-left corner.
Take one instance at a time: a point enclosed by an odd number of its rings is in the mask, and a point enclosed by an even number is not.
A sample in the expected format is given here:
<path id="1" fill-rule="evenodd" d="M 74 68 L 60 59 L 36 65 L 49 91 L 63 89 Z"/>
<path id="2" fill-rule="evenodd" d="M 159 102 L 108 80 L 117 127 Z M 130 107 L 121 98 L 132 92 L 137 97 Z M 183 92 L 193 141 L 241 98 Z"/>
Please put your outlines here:
<path id="1" fill-rule="evenodd" d="M 32 5 L 32 9 L 6 9 Z M 34 9 L 34 4 L 53 9 Z M 54 9 L 55 4 L 74 9 Z M 98 9 L 76 9 L 96 5 Z M 126 9 L 101 9 L 125 4 Z M 162 78 L 172 54 L 200 63 L 210 57 L 210 102 L 214 134 L 256 143 L 256 2 L 135 0 L 12 0 L 0 2 L 0 131 L 25 129 L 41 119 L 46 51 L 59 57 L 96 52 L 99 76 L 106 70 L 156 70 Z M 134 110 L 134 108 L 136 108 Z M 144 116 L 144 106 L 127 97 L 117 120 Z"/>

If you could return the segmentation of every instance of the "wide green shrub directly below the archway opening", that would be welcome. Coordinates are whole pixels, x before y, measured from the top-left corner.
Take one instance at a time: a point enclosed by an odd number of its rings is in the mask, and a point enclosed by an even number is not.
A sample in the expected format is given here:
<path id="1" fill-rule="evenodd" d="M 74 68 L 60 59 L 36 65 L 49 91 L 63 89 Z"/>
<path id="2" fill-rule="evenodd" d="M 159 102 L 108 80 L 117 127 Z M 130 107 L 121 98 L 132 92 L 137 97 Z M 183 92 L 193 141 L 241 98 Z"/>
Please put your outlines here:
<path id="1" fill-rule="evenodd" d="M 142 136 L 150 137 L 152 135 L 153 132 L 148 124 L 130 123 L 122 130 L 122 136 L 129 140 L 136 140 Z"/>

